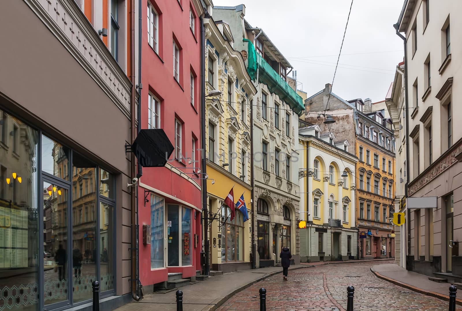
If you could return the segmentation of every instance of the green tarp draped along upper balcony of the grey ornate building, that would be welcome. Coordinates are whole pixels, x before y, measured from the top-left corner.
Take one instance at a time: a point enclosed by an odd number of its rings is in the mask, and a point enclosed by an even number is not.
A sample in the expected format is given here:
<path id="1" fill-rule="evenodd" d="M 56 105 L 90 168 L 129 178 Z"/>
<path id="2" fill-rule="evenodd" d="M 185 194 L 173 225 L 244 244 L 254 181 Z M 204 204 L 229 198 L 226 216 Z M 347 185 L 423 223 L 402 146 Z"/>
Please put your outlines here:
<path id="1" fill-rule="evenodd" d="M 294 91 L 280 75 L 264 60 L 260 54 L 255 53 L 255 47 L 248 42 L 248 66 L 247 72 L 250 78 L 255 80 L 256 69 L 258 69 L 258 83 L 266 84 L 271 93 L 276 93 L 281 100 L 289 104 L 290 108 L 297 114 L 302 114 L 305 110 L 302 97 Z"/>

